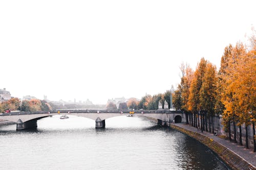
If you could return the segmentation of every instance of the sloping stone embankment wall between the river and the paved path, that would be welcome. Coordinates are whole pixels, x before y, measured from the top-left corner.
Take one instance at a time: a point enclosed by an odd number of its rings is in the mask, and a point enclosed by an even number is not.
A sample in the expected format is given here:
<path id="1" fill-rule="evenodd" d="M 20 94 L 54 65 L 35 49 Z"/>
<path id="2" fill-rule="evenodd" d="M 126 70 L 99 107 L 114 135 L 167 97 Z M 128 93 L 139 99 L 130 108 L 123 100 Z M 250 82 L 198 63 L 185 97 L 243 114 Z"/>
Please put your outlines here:
<path id="1" fill-rule="evenodd" d="M 227 163 L 231 168 L 238 170 L 248 170 L 254 169 L 253 166 L 245 161 L 242 157 L 236 153 L 230 151 L 228 148 L 225 148 L 222 144 L 212 140 L 211 138 L 204 136 L 197 132 L 192 132 L 184 128 L 175 126 L 174 124 L 170 125 L 173 129 L 176 129 L 184 134 L 187 134 L 190 137 L 193 137 L 206 145 L 212 151 L 214 151 L 225 163 Z"/>

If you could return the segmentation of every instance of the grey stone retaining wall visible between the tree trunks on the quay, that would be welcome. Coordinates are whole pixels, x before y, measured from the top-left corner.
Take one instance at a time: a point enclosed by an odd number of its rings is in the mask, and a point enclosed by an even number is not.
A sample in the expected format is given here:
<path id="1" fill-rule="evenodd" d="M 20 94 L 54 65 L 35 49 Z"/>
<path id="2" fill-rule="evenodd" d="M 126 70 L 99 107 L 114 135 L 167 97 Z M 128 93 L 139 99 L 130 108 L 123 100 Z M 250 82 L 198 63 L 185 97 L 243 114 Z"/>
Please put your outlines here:
<path id="1" fill-rule="evenodd" d="M 211 121 L 211 119 L 210 119 Z M 214 131 L 218 133 L 218 135 L 223 135 L 228 137 L 228 133 L 226 133 L 223 130 L 223 125 L 221 124 L 222 122 L 222 117 L 220 116 L 214 116 Z M 191 122 L 189 120 L 189 124 L 191 125 Z M 199 124 L 201 127 L 201 119 L 199 116 Z M 210 123 L 211 124 L 211 123 Z M 207 118 L 207 128 L 209 130 L 209 120 Z M 212 129 L 212 125 L 210 127 Z M 241 126 L 242 128 L 242 144 L 245 145 L 245 124 L 243 124 Z M 248 129 L 248 144 L 249 144 L 249 148 L 253 148 L 253 130 L 252 130 L 252 124 L 250 126 L 247 127 Z M 233 123 L 230 123 L 230 130 L 231 130 L 231 139 L 234 140 L 234 128 L 233 128 Z M 236 132 L 237 132 L 237 142 L 239 143 L 239 127 L 236 124 Z"/>

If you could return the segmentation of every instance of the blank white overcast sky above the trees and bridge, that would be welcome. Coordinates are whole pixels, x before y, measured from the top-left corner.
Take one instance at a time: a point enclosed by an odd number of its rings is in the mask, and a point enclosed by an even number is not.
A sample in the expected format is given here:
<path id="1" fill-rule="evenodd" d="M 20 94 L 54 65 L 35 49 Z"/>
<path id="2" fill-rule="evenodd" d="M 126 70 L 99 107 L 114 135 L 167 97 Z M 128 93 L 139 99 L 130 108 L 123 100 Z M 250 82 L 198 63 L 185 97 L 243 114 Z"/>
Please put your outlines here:
<path id="1" fill-rule="evenodd" d="M 256 27 L 256 1 L 0 1 L 0 88 L 91 100 L 163 93 L 179 66 L 219 68 Z"/>

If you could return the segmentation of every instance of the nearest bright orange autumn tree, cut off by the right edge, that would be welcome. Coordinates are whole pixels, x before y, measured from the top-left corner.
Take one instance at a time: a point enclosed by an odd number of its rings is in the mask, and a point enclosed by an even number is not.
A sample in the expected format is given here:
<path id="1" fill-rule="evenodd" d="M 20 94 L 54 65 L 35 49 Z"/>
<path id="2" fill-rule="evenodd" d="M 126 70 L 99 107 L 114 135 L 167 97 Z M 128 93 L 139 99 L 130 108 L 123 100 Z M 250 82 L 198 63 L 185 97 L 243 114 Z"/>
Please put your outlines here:
<path id="1" fill-rule="evenodd" d="M 256 122 L 256 49 L 252 48 L 247 54 L 239 54 L 237 67 L 233 70 L 233 82 L 229 85 L 231 88 L 232 102 L 228 103 L 236 111 L 237 117 L 242 119 L 245 124 L 246 148 L 248 146 L 248 129 L 247 127 L 252 124 L 253 129 L 253 151 L 256 152 L 255 145 L 255 122 Z M 231 91 L 230 90 L 230 91 Z"/>

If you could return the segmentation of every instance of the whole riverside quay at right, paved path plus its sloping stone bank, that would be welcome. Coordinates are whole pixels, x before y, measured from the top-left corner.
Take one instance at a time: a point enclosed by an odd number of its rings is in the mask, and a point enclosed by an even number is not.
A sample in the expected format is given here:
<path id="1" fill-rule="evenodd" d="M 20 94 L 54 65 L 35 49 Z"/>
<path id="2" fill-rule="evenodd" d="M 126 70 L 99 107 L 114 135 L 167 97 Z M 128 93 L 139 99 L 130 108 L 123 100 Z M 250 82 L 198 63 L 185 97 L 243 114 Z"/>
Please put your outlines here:
<path id="1" fill-rule="evenodd" d="M 184 123 L 172 124 L 170 127 L 199 140 L 217 153 L 233 169 L 256 169 L 256 153 L 252 149 L 245 149 L 244 145 L 240 146 L 209 132 L 201 132 Z"/>

